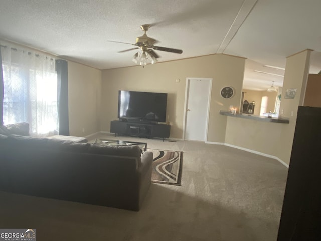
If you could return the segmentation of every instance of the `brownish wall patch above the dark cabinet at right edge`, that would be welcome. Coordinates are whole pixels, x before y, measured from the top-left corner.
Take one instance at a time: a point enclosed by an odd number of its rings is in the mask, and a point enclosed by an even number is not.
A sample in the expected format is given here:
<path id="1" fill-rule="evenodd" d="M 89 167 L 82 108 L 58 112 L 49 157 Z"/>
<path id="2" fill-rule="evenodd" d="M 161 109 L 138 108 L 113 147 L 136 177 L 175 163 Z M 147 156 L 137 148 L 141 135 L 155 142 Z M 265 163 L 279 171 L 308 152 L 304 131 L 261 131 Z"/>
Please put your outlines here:
<path id="1" fill-rule="evenodd" d="M 321 74 L 309 74 L 304 106 L 321 107 Z"/>

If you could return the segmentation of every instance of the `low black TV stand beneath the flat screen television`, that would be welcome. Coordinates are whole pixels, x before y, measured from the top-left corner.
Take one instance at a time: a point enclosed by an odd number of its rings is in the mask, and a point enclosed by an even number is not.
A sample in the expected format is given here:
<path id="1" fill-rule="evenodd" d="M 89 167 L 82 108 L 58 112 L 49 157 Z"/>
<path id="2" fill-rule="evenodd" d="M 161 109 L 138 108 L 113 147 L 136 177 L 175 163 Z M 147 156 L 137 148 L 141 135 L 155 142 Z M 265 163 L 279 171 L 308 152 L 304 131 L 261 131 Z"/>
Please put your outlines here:
<path id="1" fill-rule="evenodd" d="M 137 120 L 138 121 L 138 120 Z M 110 122 L 110 132 L 118 135 L 136 136 L 136 137 L 161 137 L 163 141 L 170 137 L 171 125 L 158 123 L 135 122 L 127 119 Z"/>

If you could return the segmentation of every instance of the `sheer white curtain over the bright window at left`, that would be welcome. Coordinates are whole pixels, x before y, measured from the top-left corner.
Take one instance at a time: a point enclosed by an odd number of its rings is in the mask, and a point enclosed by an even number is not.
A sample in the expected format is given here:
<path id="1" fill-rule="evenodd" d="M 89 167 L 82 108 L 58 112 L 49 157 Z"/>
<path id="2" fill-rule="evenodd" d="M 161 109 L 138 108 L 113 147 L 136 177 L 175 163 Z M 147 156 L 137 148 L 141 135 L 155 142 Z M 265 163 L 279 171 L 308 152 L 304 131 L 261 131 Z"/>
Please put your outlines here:
<path id="1" fill-rule="evenodd" d="M 34 136 L 58 130 L 55 59 L 1 42 L 4 76 L 4 125 L 28 122 Z"/>

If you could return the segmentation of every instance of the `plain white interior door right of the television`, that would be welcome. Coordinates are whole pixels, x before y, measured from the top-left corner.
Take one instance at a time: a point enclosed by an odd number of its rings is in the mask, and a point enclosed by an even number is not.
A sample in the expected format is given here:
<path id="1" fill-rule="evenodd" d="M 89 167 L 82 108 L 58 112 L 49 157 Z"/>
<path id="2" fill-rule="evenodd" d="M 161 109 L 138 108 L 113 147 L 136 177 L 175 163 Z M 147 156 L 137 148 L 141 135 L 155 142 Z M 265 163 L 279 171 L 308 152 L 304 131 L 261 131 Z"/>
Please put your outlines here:
<path id="1" fill-rule="evenodd" d="M 185 140 L 206 141 L 212 79 L 187 78 Z"/>

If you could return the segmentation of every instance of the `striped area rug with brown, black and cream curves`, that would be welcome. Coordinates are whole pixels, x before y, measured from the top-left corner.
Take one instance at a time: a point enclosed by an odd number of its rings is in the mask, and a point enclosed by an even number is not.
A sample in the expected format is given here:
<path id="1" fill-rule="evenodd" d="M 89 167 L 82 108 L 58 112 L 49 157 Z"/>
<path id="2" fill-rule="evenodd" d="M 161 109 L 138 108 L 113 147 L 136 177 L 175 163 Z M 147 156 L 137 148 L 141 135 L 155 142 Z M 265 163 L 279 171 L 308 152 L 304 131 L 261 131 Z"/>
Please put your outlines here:
<path id="1" fill-rule="evenodd" d="M 181 185 L 183 152 L 147 149 L 153 153 L 151 181 Z"/>

